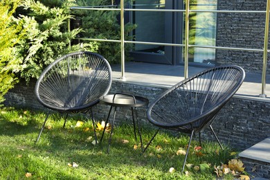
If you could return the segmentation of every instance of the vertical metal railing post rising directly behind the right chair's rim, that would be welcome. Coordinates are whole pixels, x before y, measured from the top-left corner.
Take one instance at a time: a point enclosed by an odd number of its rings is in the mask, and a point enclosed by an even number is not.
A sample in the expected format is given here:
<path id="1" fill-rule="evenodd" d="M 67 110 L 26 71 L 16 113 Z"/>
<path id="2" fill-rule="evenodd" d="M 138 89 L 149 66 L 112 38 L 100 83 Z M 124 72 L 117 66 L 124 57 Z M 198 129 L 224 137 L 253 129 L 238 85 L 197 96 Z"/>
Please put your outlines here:
<path id="1" fill-rule="evenodd" d="M 185 27 L 185 66 L 184 77 L 188 78 L 188 35 L 189 35 L 190 0 L 186 0 L 186 27 Z"/>

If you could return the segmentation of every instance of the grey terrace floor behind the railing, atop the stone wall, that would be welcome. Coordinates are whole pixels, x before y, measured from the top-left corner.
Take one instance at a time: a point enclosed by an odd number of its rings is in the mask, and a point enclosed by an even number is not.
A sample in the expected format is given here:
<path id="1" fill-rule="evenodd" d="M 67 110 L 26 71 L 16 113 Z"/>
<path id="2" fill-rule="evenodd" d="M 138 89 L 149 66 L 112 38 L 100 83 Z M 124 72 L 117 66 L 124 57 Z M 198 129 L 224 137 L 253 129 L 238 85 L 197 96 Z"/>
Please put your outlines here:
<path id="1" fill-rule="evenodd" d="M 121 81 L 120 64 L 111 65 L 113 79 Z M 193 75 L 203 71 L 204 67 L 189 66 L 188 75 Z M 152 64 L 145 62 L 126 62 L 125 63 L 125 82 L 134 84 L 145 84 L 153 87 L 171 87 L 184 79 L 183 66 L 172 66 L 168 64 Z M 262 93 L 262 75 L 260 73 L 246 72 L 246 78 L 235 93 L 240 98 L 252 98 L 270 102 L 270 75 L 267 75 L 265 94 L 269 97 L 260 98 Z M 267 89 L 268 88 L 268 89 Z"/>

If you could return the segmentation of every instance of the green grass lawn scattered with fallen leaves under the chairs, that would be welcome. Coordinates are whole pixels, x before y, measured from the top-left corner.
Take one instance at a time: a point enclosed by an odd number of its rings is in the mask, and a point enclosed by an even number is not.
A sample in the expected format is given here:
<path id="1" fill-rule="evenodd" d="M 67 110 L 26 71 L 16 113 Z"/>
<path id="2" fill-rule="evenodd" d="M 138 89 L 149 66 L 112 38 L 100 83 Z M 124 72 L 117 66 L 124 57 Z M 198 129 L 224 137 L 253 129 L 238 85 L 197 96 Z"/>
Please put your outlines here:
<path id="1" fill-rule="evenodd" d="M 142 154 L 134 140 L 132 125 L 116 125 L 107 154 L 109 133 L 102 143 L 93 145 L 91 120 L 76 127 L 84 116 L 71 116 L 63 129 L 64 116 L 53 114 L 41 138 L 35 139 L 46 113 L 15 108 L 0 110 L 0 179 L 217 179 L 214 166 L 235 158 L 230 147 L 221 150 L 217 143 L 203 141 L 201 150 L 192 142 L 188 165 L 181 173 L 188 136 L 180 138 L 159 133 Z M 100 120 L 101 121 L 101 120 Z M 143 125 L 146 144 L 155 129 Z M 98 132 L 100 138 L 102 132 Z M 136 145 L 138 148 L 136 148 Z M 201 167 L 200 170 L 194 168 Z M 174 168 L 174 172 L 169 172 Z M 231 173 L 223 176 L 233 179 Z"/>

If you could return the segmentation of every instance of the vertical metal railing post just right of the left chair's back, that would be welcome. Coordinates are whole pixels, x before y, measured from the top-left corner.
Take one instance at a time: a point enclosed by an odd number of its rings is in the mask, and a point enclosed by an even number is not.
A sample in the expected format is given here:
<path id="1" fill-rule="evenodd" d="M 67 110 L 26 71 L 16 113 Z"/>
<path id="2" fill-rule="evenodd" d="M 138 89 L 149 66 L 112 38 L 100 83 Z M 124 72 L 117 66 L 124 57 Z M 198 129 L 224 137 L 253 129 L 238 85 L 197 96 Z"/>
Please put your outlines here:
<path id="1" fill-rule="evenodd" d="M 120 1 L 120 24 L 121 24 L 121 79 L 125 81 L 125 22 L 124 0 Z"/>

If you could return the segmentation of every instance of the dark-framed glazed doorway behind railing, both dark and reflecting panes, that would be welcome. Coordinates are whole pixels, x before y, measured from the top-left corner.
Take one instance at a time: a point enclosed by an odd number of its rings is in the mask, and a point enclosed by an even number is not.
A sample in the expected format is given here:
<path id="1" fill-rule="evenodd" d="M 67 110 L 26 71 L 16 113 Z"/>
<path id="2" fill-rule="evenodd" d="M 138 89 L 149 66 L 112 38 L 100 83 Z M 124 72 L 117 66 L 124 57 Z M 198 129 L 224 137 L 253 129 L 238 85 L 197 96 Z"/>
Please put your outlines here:
<path id="1" fill-rule="evenodd" d="M 184 44 L 185 13 L 156 12 L 147 9 L 184 10 L 184 0 L 136 0 L 131 21 L 137 27 L 133 32 L 136 42 Z M 190 10 L 217 10 L 217 0 L 190 0 Z M 215 46 L 217 14 L 190 12 L 189 44 Z M 134 44 L 134 61 L 179 65 L 184 62 L 183 47 Z M 189 48 L 188 61 L 194 64 L 215 64 L 214 48 Z"/>

